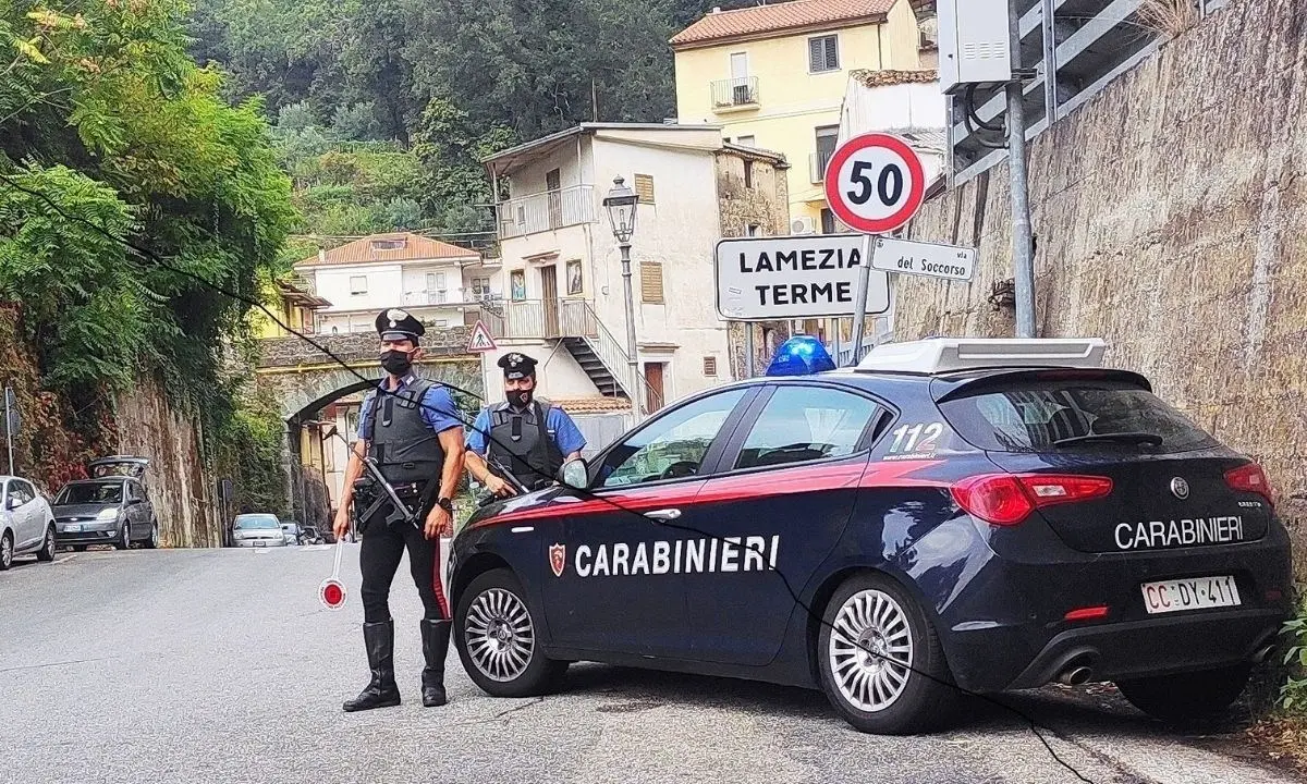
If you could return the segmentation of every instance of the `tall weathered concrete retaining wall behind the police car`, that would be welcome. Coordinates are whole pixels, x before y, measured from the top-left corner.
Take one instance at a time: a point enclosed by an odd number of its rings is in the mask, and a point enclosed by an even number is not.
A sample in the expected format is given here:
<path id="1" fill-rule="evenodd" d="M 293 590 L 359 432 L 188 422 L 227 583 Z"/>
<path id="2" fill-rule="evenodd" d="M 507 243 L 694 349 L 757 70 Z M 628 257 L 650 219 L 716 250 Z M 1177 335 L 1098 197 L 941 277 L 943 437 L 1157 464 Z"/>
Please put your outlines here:
<path id="1" fill-rule="evenodd" d="M 1039 332 L 1104 337 L 1112 365 L 1261 460 L 1295 527 L 1307 516 L 1294 498 L 1307 491 L 1304 20 L 1299 0 L 1231 3 L 1030 153 Z M 1012 277 L 1006 178 L 991 170 L 911 226 L 978 246 L 980 264 L 970 285 L 904 280 L 899 340 L 1012 335 L 1012 311 L 988 302 Z"/>

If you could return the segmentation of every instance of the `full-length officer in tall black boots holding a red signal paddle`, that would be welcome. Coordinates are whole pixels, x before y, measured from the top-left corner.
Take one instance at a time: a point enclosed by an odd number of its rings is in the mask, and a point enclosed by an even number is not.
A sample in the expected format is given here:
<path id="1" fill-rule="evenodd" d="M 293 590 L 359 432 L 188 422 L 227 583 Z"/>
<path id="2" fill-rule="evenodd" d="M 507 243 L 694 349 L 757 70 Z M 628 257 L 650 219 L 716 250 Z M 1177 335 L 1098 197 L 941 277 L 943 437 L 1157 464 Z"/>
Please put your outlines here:
<path id="1" fill-rule="evenodd" d="M 454 529 L 452 497 L 463 476 L 463 422 L 454 399 L 444 387 L 418 378 L 413 363 L 422 355 L 418 338 L 426 332 L 422 323 L 403 310 L 392 308 L 376 316 L 380 336 L 382 367 L 386 378 L 380 389 L 369 392 L 358 417 L 358 444 L 349 456 L 345 486 L 335 531 L 341 537 L 349 531 L 350 503 L 357 500 L 358 525 L 363 536 L 359 568 L 363 572 L 363 644 L 372 678 L 346 711 L 366 711 L 400 704 L 395 683 L 395 622 L 389 612 L 391 583 L 405 546 L 413 581 L 422 597 L 425 614 L 421 622 L 422 704 L 443 706 L 444 657 L 450 649 L 450 606 L 440 574 L 440 536 Z M 386 481 L 395 489 L 413 523 L 387 523 L 392 511 L 388 503 L 369 519 L 362 519 L 380 487 L 369 487 L 363 456 L 376 461 Z M 356 482 L 363 478 L 356 499 Z"/>

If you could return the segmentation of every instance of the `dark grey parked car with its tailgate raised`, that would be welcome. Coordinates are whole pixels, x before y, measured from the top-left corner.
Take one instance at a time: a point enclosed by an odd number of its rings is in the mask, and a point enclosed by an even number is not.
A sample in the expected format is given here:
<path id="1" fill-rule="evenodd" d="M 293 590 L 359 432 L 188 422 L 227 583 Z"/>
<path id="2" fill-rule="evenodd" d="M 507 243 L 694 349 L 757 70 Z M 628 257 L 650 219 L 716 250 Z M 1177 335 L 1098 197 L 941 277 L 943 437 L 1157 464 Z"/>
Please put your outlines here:
<path id="1" fill-rule="evenodd" d="M 51 504 L 60 546 L 157 547 L 159 524 L 142 482 L 146 465 L 144 457 L 122 455 L 93 460 L 86 468 L 94 478 L 64 485 Z"/>

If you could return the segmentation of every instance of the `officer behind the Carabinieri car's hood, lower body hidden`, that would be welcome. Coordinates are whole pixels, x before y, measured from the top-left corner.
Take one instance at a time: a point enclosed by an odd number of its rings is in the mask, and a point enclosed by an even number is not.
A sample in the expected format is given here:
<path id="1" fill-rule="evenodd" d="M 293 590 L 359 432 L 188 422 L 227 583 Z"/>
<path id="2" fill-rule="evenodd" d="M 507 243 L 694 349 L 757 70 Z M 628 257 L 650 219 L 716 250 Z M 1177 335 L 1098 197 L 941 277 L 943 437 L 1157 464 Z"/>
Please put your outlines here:
<path id="1" fill-rule="evenodd" d="M 506 400 L 477 414 L 468 435 L 468 472 L 495 495 L 514 495 L 512 485 L 486 465 L 493 457 L 523 486 L 538 490 L 553 482 L 563 463 L 580 456 L 586 436 L 567 412 L 536 397 L 535 359 L 512 351 L 499 367 Z"/>

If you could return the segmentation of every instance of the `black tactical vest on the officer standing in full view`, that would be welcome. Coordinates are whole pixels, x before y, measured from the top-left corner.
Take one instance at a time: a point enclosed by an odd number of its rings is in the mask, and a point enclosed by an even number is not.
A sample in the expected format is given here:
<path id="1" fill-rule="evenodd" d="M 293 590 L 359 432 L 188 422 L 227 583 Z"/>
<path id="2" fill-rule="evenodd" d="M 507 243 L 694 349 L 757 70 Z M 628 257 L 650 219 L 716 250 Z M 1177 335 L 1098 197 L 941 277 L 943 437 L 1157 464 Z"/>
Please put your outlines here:
<path id="1" fill-rule="evenodd" d="M 421 402 L 433 383 L 417 379 L 403 392 L 375 392 L 372 399 L 372 439 L 369 455 L 391 485 L 425 485 L 439 477 L 444 449 L 439 436 L 422 419 Z"/>

